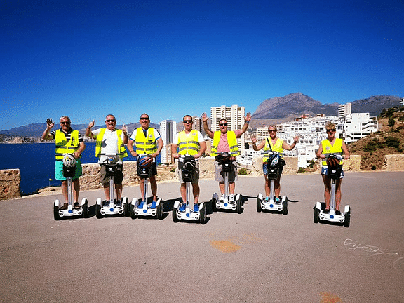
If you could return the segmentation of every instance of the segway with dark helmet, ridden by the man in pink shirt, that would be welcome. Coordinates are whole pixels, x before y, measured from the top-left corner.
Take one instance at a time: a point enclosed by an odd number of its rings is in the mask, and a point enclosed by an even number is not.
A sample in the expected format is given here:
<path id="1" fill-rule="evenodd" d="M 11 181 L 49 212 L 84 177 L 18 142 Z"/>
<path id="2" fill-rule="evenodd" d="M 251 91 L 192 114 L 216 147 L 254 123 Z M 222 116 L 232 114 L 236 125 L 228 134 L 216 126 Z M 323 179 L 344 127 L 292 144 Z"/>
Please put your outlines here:
<path id="1" fill-rule="evenodd" d="M 234 170 L 234 164 L 231 155 L 228 152 L 222 152 L 216 156 L 216 161 L 222 166 L 224 172 L 224 198 L 219 198 L 219 194 L 212 196 L 212 210 L 236 210 L 238 214 L 243 211 L 241 207 L 241 195 L 237 194 L 234 201 L 230 201 L 229 197 L 229 173 Z"/>

